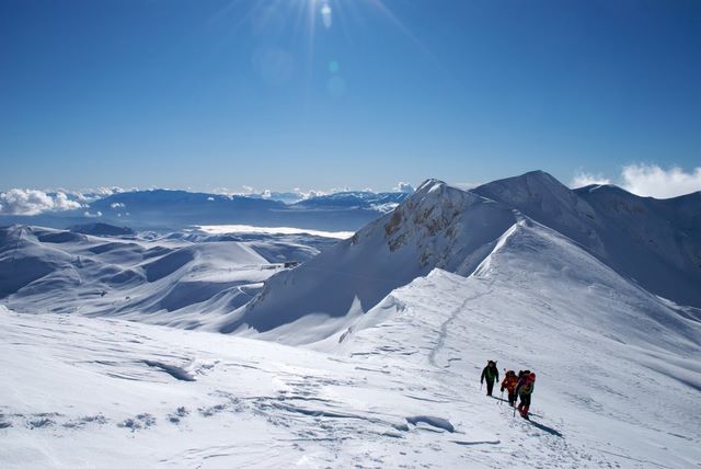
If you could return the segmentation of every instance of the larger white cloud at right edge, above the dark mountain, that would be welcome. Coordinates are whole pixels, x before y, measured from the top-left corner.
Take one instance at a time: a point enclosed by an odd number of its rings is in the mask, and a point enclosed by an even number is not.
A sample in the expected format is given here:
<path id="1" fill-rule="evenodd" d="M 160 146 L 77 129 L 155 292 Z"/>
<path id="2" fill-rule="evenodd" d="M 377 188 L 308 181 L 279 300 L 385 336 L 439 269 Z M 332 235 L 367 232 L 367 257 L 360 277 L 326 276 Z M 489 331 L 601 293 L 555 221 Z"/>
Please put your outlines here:
<path id="1" fill-rule="evenodd" d="M 630 164 L 621 176 L 622 186 L 641 196 L 669 198 L 701 191 L 701 167 L 686 172 L 678 167 L 665 170 L 656 164 Z"/>

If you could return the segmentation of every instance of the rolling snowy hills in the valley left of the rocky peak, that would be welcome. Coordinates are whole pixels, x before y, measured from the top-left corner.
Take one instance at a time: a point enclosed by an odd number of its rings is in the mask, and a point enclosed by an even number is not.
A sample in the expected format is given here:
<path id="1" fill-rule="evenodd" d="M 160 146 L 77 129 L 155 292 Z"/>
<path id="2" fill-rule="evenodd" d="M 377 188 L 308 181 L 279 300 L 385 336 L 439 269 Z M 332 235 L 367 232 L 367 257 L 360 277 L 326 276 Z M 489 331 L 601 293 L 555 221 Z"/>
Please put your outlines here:
<path id="1" fill-rule="evenodd" d="M 301 238 L 108 238 L 0 228 L 0 298 L 20 311 L 196 328 L 248 302 L 280 262 L 315 255 Z"/>

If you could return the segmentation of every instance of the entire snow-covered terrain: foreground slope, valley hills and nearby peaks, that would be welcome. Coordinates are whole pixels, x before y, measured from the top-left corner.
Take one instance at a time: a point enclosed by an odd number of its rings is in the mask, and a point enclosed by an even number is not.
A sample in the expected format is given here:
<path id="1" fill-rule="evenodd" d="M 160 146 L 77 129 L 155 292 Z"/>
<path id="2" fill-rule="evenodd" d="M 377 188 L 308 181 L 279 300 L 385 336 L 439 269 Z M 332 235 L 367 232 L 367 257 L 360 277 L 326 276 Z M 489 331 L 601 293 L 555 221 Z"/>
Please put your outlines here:
<path id="1" fill-rule="evenodd" d="M 430 180 L 319 254 L 3 229 L 0 466 L 701 467 L 701 205 L 618 191 Z"/>

